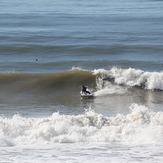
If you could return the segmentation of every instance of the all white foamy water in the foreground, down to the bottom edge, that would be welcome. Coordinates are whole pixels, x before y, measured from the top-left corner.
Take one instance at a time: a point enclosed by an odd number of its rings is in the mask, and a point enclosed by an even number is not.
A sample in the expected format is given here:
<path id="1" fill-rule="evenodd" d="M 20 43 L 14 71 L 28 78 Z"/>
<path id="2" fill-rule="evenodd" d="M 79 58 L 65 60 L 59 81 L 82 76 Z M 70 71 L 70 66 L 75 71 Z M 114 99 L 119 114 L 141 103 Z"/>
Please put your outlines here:
<path id="1" fill-rule="evenodd" d="M 163 112 L 138 104 L 129 109 L 128 114 L 115 116 L 89 108 L 80 115 L 1 117 L 0 161 L 161 162 Z"/>

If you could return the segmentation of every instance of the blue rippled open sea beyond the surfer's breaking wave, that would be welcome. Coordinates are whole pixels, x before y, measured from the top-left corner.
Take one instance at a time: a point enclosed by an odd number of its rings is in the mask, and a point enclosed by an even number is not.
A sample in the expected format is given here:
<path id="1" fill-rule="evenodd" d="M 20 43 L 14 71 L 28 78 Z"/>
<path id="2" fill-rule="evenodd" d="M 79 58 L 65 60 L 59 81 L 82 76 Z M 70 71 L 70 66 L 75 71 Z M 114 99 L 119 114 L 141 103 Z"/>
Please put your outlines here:
<path id="1" fill-rule="evenodd" d="M 162 7 L 157 0 L 3 0 L 0 71 L 161 71 Z"/>

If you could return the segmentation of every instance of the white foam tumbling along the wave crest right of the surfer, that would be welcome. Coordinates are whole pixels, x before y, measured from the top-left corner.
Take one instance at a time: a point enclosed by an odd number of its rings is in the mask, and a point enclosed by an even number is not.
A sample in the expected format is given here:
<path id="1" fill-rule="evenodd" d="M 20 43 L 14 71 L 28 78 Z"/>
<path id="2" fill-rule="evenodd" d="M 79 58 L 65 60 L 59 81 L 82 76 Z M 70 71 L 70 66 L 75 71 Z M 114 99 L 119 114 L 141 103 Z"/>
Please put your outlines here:
<path id="1" fill-rule="evenodd" d="M 93 74 L 100 76 L 102 79 L 111 76 L 114 78 L 114 82 L 119 85 L 140 86 L 149 90 L 163 90 L 163 72 L 145 72 L 133 68 L 112 68 L 110 71 L 103 69 L 94 70 Z"/>

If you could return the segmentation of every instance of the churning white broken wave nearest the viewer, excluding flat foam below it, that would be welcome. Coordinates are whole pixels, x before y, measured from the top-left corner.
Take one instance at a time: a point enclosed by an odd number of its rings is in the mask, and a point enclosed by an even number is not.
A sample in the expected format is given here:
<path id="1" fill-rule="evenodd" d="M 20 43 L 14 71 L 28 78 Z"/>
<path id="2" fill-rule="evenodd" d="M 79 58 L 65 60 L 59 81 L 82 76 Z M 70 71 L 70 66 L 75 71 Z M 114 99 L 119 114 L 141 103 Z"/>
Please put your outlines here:
<path id="1" fill-rule="evenodd" d="M 103 116 L 93 110 L 80 115 L 53 113 L 44 118 L 0 118 L 0 146 L 105 142 L 153 144 L 162 142 L 163 112 L 132 104 L 129 114 Z M 157 133 L 157 135 L 156 135 Z"/>

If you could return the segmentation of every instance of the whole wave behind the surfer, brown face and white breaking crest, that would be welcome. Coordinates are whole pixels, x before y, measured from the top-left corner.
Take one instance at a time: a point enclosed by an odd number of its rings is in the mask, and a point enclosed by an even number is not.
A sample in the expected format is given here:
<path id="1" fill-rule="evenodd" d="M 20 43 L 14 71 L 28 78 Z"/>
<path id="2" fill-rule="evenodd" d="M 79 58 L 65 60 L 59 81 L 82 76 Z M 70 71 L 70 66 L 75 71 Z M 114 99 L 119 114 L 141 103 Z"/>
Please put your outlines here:
<path id="1" fill-rule="evenodd" d="M 58 73 L 1 73 L 0 93 L 79 94 L 81 85 L 95 90 L 95 95 L 123 94 L 124 86 L 148 90 L 163 90 L 163 72 L 145 72 L 137 69 L 98 69 L 94 71 L 73 68 Z"/>

